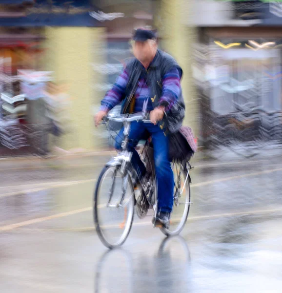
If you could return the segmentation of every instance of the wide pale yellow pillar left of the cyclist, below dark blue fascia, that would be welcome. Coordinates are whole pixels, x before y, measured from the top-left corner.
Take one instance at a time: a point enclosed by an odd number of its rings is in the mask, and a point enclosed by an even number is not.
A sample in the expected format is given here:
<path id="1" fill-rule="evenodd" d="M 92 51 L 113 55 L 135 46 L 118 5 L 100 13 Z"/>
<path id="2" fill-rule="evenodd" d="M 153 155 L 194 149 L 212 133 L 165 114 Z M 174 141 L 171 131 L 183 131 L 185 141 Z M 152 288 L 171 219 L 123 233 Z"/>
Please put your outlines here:
<path id="1" fill-rule="evenodd" d="M 71 99 L 71 132 L 62 136 L 60 147 L 69 150 L 91 150 L 99 146 L 95 140 L 92 107 L 101 97 L 93 88 L 100 75 L 92 63 L 101 62 L 95 54 L 102 42 L 103 28 L 49 27 L 45 30 L 44 69 L 55 73 L 55 83 L 66 84 Z"/>

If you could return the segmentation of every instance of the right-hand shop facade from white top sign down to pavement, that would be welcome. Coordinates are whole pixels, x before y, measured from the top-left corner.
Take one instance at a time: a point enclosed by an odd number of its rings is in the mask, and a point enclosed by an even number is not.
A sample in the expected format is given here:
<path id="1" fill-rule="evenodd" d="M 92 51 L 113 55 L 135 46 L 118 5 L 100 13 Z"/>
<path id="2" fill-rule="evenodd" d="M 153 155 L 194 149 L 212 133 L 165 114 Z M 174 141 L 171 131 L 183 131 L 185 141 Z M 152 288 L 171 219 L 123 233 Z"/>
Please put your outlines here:
<path id="1" fill-rule="evenodd" d="M 199 0 L 193 10 L 201 144 L 280 145 L 281 3 Z"/>

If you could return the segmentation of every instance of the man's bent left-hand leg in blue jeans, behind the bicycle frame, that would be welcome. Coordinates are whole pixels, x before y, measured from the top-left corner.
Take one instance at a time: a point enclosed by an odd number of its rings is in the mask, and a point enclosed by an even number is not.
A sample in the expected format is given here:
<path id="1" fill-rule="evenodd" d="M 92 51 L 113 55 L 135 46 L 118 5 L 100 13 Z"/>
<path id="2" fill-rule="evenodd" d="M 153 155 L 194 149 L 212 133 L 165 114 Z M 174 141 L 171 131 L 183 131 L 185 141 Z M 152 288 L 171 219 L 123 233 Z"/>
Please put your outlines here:
<path id="1" fill-rule="evenodd" d="M 116 138 L 116 149 L 118 150 L 121 150 L 121 143 L 124 140 L 123 131 L 124 128 L 122 127 Z M 129 143 L 127 149 L 132 152 L 131 163 L 135 168 L 139 178 L 141 178 L 146 173 L 146 167 L 144 166 L 137 150 L 135 149 L 141 139 L 146 139 L 146 129 L 144 124 L 141 122 L 132 122 L 129 131 Z"/>

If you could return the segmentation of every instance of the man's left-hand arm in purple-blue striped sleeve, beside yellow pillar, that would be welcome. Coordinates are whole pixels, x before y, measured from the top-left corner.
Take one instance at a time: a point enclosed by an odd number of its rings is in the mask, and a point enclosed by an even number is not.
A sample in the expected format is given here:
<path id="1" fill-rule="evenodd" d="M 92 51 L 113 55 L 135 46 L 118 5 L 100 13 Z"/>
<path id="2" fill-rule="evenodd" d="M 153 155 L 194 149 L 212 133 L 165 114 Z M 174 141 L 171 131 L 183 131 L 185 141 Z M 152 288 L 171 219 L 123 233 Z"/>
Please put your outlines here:
<path id="1" fill-rule="evenodd" d="M 125 88 L 128 83 L 129 76 L 124 68 L 117 78 L 116 83 L 113 85 L 112 89 L 110 89 L 103 100 L 101 101 L 101 108 L 100 111 L 108 112 L 114 106 L 120 104 L 121 99 L 125 93 Z"/>

